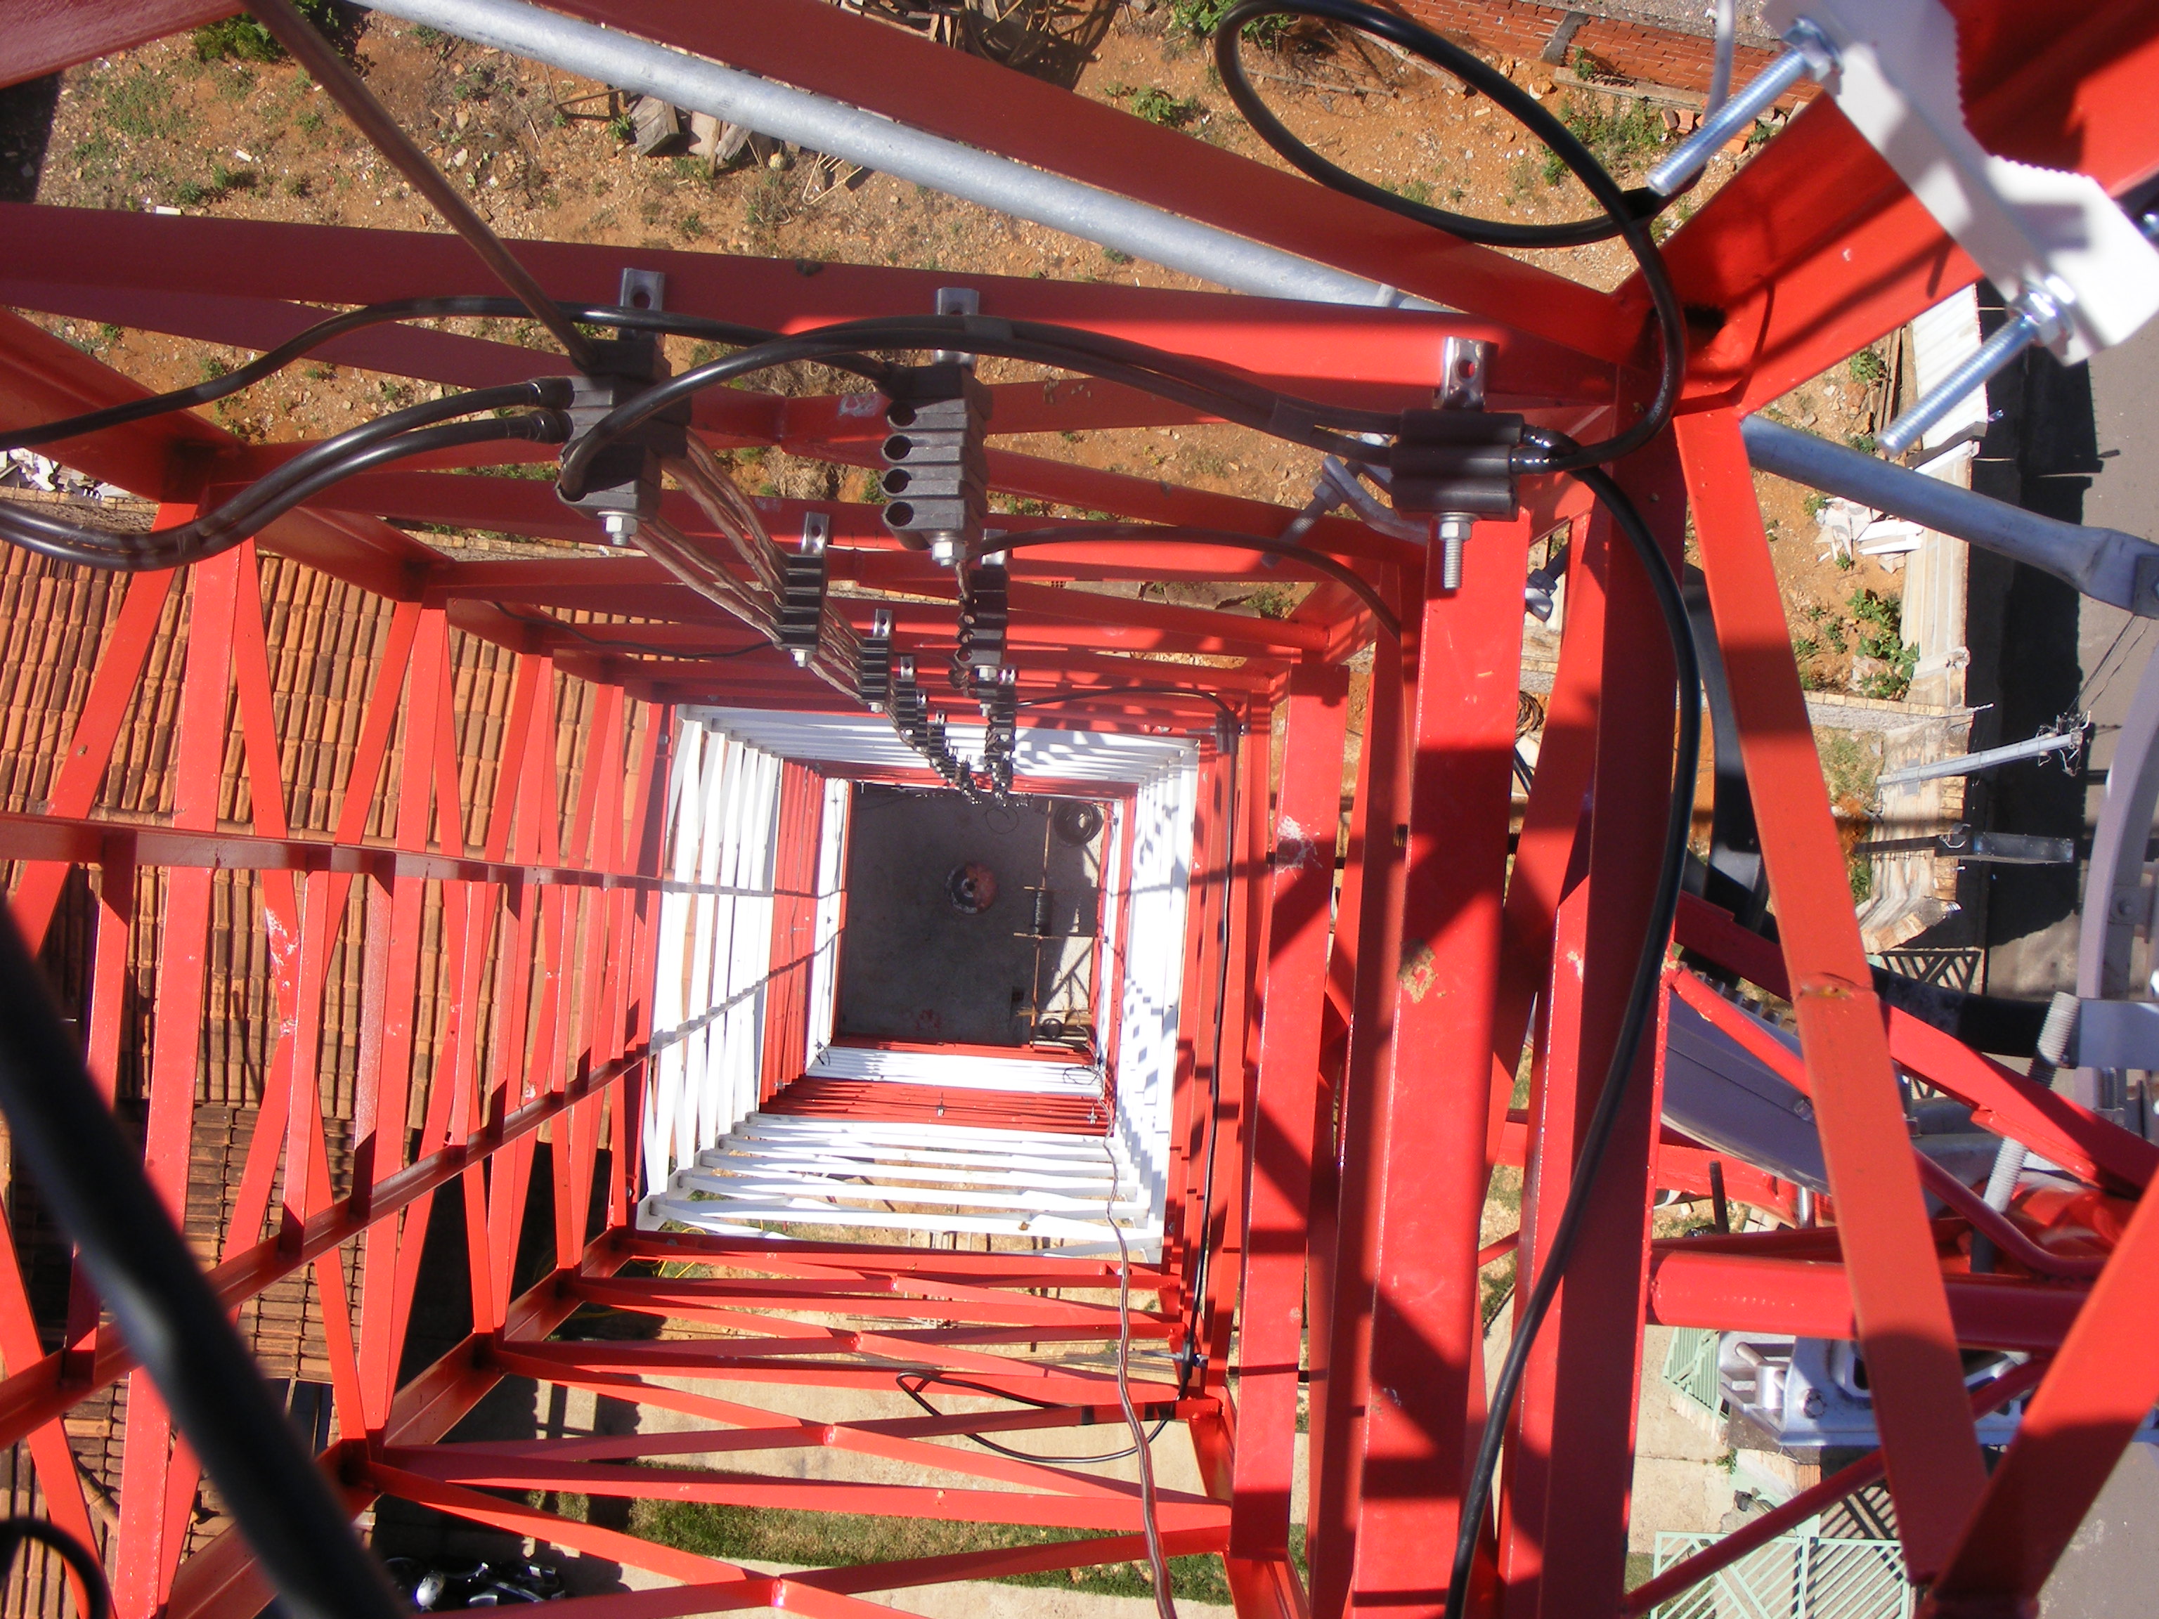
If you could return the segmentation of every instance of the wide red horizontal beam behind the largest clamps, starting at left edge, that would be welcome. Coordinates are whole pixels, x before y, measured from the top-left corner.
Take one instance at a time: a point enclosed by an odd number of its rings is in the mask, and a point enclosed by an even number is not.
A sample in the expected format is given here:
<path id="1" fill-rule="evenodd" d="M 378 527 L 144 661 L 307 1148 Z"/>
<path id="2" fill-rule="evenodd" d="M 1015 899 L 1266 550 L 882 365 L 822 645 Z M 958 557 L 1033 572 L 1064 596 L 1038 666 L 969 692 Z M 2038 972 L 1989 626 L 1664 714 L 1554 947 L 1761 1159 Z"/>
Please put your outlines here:
<path id="1" fill-rule="evenodd" d="M 885 47 L 905 43 L 885 28 L 872 28 L 872 37 Z M 1019 89 L 1030 99 L 1060 95 L 1038 80 L 1026 80 Z M 1121 117 L 1108 108 L 1103 114 Z M 1151 125 L 1140 127 L 1151 130 Z M 1172 136 L 1172 140 L 1179 147 L 1190 147 L 1185 136 Z M 1209 147 L 1209 151 L 1216 149 Z M 1252 168 L 1259 166 L 1252 164 Z M 1274 175 L 1274 171 L 1261 173 Z M 1280 175 L 1276 179 L 1300 194 L 1323 196 L 1300 179 Z M 1300 207 L 1308 205 L 1300 203 Z M 1447 242 L 1423 227 L 1408 227 L 1403 235 L 1418 242 Z M 1470 248 L 1468 253 L 1481 250 Z M 581 242 L 518 242 L 518 259 L 551 294 L 594 304 L 613 304 L 620 296 L 622 255 L 622 248 Z M 661 270 L 667 276 L 669 309 L 775 332 L 799 332 L 872 315 L 922 315 L 935 309 L 939 287 L 963 285 L 982 294 L 982 313 L 987 315 L 1077 326 L 1151 343 L 1231 365 L 1252 376 L 1280 378 L 1304 393 L 1334 380 L 1431 389 L 1440 380 L 1440 345 L 1455 335 L 1498 345 L 1492 386 L 1509 397 L 1604 404 L 1613 397 L 1613 360 L 1624 352 L 1621 345 L 1613 343 L 1613 335 L 1604 335 L 1600 341 L 1608 356 L 1600 363 L 1492 319 L 1436 311 L 1354 309 L 1213 291 L 816 263 L 810 259 L 753 259 L 665 248 L 639 248 L 633 257 L 641 268 Z M 1608 307 L 1604 294 L 1518 266 L 1501 255 L 1490 257 L 1505 266 L 1505 274 L 1520 274 L 1537 287 L 1552 289 L 1559 298 L 1596 309 Z M 315 304 L 501 294 L 471 257 L 471 250 L 453 235 L 58 209 L 24 203 L 0 205 L 0 283 L 28 283 L 24 291 L 54 283 L 78 289 L 153 285 L 175 294 Z M 1526 309 L 1509 309 L 1509 317 L 1526 313 Z"/>

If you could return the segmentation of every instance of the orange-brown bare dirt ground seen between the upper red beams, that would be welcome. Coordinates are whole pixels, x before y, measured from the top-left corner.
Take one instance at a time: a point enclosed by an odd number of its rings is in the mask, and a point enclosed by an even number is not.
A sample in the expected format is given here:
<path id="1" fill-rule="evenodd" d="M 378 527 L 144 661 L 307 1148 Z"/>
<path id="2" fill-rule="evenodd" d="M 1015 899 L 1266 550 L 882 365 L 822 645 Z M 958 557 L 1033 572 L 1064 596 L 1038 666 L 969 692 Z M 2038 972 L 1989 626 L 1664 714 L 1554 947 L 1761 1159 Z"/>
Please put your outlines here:
<path id="1" fill-rule="evenodd" d="M 1194 140 L 1280 166 L 1228 104 L 1211 45 L 1187 30 L 1185 9 L 1162 0 L 1142 4 L 1146 11 L 1116 11 L 1090 58 L 1071 63 L 1075 89 Z M 779 153 L 779 166 L 738 160 L 721 173 L 680 153 L 637 158 L 626 142 L 620 99 L 607 86 L 393 17 L 363 13 L 352 43 L 376 93 L 507 237 L 1144 287 L 1200 285 L 890 175 L 855 175 L 836 186 L 814 153 Z M 1300 136 L 1403 196 L 1524 222 L 1578 218 L 1589 209 L 1580 186 L 1548 162 L 1535 138 L 1488 97 L 1464 93 L 1451 80 L 1360 43 L 1317 37 L 1293 35 L 1276 50 L 1248 50 L 1261 91 Z M 179 35 L 69 71 L 37 201 L 440 229 L 298 67 L 205 60 L 205 54 Z M 1682 108 L 1667 112 L 1654 101 L 1580 89 L 1542 63 L 1496 65 L 1561 112 L 1624 183 L 1637 183 L 1690 119 Z M 1742 162 L 1744 153 L 1719 155 L 1695 194 L 1673 209 L 1675 222 Z M 1613 242 L 1522 257 L 1596 287 L 1619 285 L 1632 268 L 1624 246 Z M 244 358 L 235 350 L 155 332 L 45 324 L 153 389 L 199 382 Z M 499 328 L 514 335 L 514 324 Z M 680 348 L 678 363 L 691 358 L 689 345 Z M 1775 410 L 1811 432 L 1850 438 L 1876 425 L 1872 393 L 1848 367 L 1837 367 Z M 395 378 L 298 365 L 220 402 L 214 414 L 246 438 L 313 438 L 412 397 L 410 384 Z M 1311 451 L 1228 425 L 1006 443 L 1285 505 L 1304 503 L 1317 468 Z M 753 492 L 872 496 L 870 475 L 859 471 L 788 462 L 777 453 L 743 453 L 736 466 Z M 1816 538 L 1805 492 L 1768 477 L 1757 477 L 1757 488 L 1805 674 L 1811 684 L 1842 686 L 1863 637 L 1878 628 L 1859 620 L 1852 600 L 1874 591 L 1893 602 L 1898 579 L 1870 559 L 1837 566 L 1822 557 L 1827 546 Z M 1036 509 L 1017 501 L 1002 505 Z"/>

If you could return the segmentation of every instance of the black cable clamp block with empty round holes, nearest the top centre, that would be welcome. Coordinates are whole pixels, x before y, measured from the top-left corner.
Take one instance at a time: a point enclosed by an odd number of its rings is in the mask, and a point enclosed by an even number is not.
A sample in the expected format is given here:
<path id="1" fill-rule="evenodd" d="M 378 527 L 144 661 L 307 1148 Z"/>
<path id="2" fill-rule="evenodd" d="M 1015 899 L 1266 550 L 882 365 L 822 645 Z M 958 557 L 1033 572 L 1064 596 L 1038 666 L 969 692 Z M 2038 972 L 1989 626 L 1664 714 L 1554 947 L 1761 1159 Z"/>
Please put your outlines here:
<path id="1" fill-rule="evenodd" d="M 963 360 L 894 369 L 885 384 L 885 527 L 900 544 L 956 563 L 989 512 L 989 389 Z"/>

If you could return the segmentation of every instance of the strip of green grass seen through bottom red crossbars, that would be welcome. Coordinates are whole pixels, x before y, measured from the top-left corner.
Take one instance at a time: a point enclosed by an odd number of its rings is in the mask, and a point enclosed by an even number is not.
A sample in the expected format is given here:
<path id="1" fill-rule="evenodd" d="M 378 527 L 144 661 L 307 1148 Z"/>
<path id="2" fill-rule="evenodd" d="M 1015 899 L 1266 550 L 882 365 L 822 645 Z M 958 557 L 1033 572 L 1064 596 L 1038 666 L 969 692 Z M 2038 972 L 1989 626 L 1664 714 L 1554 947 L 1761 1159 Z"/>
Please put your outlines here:
<path id="1" fill-rule="evenodd" d="M 801 1567 L 892 1563 L 954 1552 L 995 1552 L 1092 1539 L 1077 1528 L 1032 1524 L 974 1524 L 946 1518 L 846 1518 L 777 1507 L 717 1507 L 691 1500 L 639 1500 L 630 1533 L 700 1556 Z M 1146 1597 L 1142 1563 L 1103 1563 L 1080 1569 L 1015 1574 L 1000 1584 L 1054 1587 L 1105 1597 Z M 1218 1556 L 1172 1556 L 1170 1591 L 1183 1602 L 1228 1602 L 1228 1580 Z"/>

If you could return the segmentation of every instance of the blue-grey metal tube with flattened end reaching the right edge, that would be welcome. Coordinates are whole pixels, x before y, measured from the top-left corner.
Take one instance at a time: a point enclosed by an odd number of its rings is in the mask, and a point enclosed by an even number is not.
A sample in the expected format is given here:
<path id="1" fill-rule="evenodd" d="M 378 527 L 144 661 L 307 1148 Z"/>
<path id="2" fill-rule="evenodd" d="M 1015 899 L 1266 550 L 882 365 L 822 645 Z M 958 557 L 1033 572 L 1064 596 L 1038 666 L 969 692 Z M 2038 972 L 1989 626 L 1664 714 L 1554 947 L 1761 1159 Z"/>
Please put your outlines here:
<path id="1" fill-rule="evenodd" d="M 1764 473 L 1842 494 L 1876 512 L 1924 522 L 1939 533 L 1969 540 L 2014 561 L 2066 579 L 2081 594 L 2159 617 L 2159 546 L 2116 529 L 2058 522 L 2036 512 L 1993 501 L 1939 477 L 1861 455 L 1814 434 L 1779 427 L 1766 417 L 1740 423 L 1747 460 Z"/>

